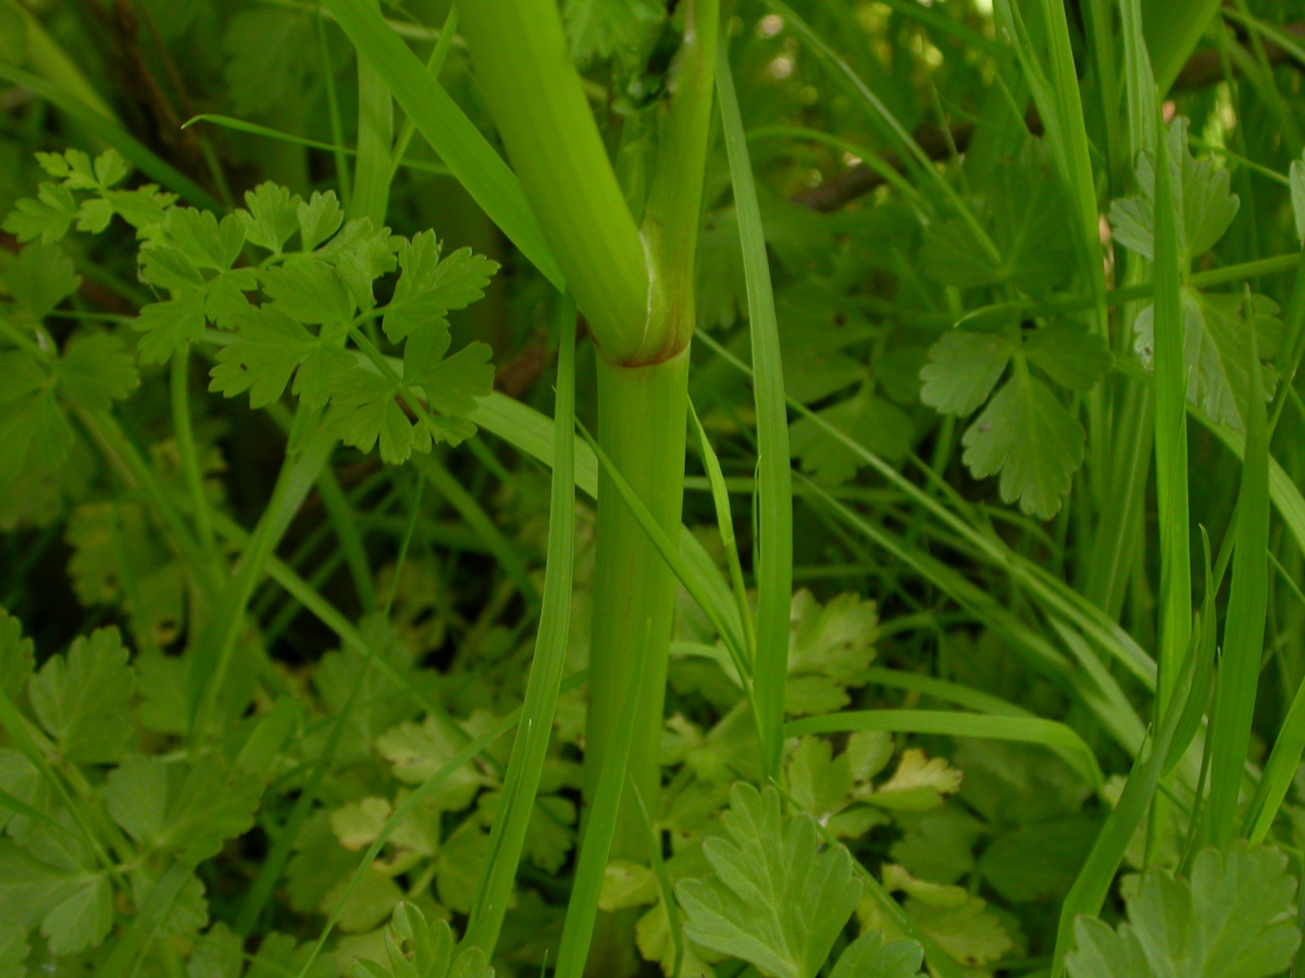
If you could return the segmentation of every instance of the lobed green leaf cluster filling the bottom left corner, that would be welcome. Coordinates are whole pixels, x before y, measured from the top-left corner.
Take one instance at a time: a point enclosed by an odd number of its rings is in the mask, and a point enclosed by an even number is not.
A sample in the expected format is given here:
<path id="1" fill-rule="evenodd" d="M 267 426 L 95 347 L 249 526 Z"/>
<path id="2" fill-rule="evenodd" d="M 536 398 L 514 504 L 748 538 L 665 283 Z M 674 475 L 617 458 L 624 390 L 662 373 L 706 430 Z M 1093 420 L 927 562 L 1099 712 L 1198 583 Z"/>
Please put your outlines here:
<path id="1" fill-rule="evenodd" d="M 264 781 L 217 755 L 140 754 L 137 675 L 116 629 L 33 672 L 31 643 L 0 613 L 0 679 L 13 737 L 0 748 L 0 960 L 22 974 L 38 943 L 55 960 L 94 951 L 130 926 L 124 911 L 151 905 L 158 934 L 193 938 L 209 919 L 193 870 L 249 829 Z"/>

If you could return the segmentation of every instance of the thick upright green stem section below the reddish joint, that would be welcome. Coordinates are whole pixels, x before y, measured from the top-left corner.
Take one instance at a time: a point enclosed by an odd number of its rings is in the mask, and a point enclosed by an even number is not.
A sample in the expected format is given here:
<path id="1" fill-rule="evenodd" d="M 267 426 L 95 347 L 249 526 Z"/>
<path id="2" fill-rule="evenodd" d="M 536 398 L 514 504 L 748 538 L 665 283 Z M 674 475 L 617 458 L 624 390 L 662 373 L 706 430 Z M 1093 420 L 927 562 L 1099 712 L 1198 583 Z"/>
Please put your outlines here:
<path id="1" fill-rule="evenodd" d="M 615 366 L 602 360 L 598 366 L 599 443 L 658 526 L 672 536 L 679 533 L 684 499 L 688 379 L 688 348 L 652 366 Z M 603 758 L 622 720 L 621 698 L 630 675 L 647 660 L 628 785 L 655 810 L 676 582 L 606 473 L 598 484 L 595 561 L 585 797 L 594 795 Z M 646 852 L 642 818 L 628 792 L 612 855 L 641 858 Z"/>

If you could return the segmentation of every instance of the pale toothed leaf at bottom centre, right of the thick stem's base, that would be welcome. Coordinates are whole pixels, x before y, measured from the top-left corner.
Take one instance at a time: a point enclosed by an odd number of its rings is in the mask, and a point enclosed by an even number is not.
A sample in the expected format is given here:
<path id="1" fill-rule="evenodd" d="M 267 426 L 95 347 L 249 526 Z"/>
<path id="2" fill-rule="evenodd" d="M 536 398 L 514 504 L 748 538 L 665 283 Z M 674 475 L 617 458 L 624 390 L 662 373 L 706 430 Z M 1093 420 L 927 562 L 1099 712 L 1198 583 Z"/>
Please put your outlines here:
<path id="1" fill-rule="evenodd" d="M 722 823 L 728 837 L 702 844 L 715 874 L 676 888 L 684 932 L 776 978 L 814 978 L 861 896 L 852 857 L 823 848 L 809 815 L 784 819 L 773 788 L 735 785 Z"/>

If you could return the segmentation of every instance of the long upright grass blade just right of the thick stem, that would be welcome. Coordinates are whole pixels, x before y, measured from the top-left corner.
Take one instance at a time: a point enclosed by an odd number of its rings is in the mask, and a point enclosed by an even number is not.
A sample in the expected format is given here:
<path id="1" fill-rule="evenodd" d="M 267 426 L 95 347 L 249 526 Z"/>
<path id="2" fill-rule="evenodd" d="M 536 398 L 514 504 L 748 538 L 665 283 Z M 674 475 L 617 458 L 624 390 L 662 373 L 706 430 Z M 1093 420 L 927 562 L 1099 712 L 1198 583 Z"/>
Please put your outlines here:
<path id="1" fill-rule="evenodd" d="M 757 657 L 754 695 L 767 775 L 779 772 L 783 748 L 784 682 L 788 675 L 788 609 L 793 591 L 793 485 L 788 412 L 779 352 L 779 325 L 770 284 L 766 236 L 739 112 L 728 51 L 716 56 L 716 93 L 748 287 L 749 331 L 757 404 Z"/>

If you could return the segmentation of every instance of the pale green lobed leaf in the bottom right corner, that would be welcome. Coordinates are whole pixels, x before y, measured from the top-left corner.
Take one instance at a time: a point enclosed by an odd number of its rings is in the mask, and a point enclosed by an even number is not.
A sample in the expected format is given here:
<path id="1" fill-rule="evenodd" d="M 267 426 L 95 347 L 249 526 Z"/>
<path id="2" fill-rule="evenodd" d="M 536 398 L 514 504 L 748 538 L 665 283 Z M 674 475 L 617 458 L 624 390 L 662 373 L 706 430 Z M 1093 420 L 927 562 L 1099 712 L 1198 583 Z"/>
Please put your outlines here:
<path id="1" fill-rule="evenodd" d="M 1287 858 L 1245 842 L 1202 850 L 1188 879 L 1148 870 L 1129 900 L 1128 923 L 1075 922 L 1070 978 L 1280 974 L 1301 940 L 1295 892 Z"/>

